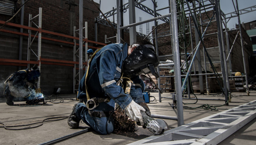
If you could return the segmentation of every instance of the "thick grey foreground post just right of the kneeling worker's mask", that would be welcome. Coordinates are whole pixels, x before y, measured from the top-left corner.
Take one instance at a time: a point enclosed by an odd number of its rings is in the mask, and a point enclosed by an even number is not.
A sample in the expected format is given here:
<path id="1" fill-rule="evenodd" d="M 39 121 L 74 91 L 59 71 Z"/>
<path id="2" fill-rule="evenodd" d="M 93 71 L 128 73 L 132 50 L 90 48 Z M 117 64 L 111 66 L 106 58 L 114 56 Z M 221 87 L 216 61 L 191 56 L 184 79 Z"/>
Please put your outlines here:
<path id="1" fill-rule="evenodd" d="M 170 1 L 171 9 L 171 22 L 172 22 L 172 44 L 173 44 L 173 56 L 174 56 L 174 73 L 175 73 L 175 92 L 177 101 L 177 118 L 178 126 L 184 125 L 183 119 L 183 104 L 182 104 L 182 92 L 181 92 L 181 77 L 180 77 L 180 50 L 178 40 L 178 24 L 177 24 L 177 12 L 176 12 L 176 0 Z"/>

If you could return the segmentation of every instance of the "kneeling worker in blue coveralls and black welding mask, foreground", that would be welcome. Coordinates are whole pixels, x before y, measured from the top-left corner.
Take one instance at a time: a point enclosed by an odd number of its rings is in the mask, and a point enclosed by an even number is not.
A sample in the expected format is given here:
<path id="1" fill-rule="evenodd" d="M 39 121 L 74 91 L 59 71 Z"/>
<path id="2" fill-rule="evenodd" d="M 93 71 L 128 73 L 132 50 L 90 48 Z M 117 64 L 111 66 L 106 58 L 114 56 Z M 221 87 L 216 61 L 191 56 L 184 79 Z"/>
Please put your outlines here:
<path id="1" fill-rule="evenodd" d="M 138 124 L 144 125 L 140 112 L 151 115 L 143 99 L 145 84 L 139 75 L 152 73 L 158 78 L 158 64 L 154 46 L 145 40 L 97 49 L 79 84 L 78 99 L 84 99 L 84 103 L 73 106 L 68 125 L 78 128 L 83 120 L 99 134 L 112 133 L 117 125 L 137 131 Z"/>

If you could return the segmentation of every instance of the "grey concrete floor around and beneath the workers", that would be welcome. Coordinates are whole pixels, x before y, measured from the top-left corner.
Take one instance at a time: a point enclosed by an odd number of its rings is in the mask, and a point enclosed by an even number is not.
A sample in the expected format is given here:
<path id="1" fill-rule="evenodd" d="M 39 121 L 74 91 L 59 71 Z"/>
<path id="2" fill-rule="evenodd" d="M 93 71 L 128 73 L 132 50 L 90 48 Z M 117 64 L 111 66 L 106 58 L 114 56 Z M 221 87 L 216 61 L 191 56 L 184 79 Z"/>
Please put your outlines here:
<path id="1" fill-rule="evenodd" d="M 224 105 L 217 107 L 218 111 L 204 110 L 202 108 L 193 110 L 183 109 L 184 123 L 187 124 L 214 113 L 256 100 L 256 91 L 250 91 L 250 96 L 241 92 L 233 92 L 232 95 L 232 102 L 229 103 L 229 106 Z M 157 102 L 148 103 L 152 114 L 177 116 L 177 110 L 172 109 L 170 105 L 172 103 L 171 99 L 162 99 L 162 102 L 160 103 L 158 101 L 158 93 L 151 93 L 151 96 L 155 96 L 157 99 Z M 170 93 L 163 93 L 162 96 L 170 97 Z M 199 95 L 197 93 L 196 96 L 198 98 L 224 99 L 224 97 L 218 93 L 212 93 L 209 96 Z M 26 125 L 41 122 L 47 118 L 69 116 L 73 104 L 78 102 L 75 100 L 76 96 L 74 94 L 68 94 L 59 95 L 58 97 L 61 97 L 64 102 L 59 103 L 61 98 L 58 98 L 55 103 L 47 102 L 47 104 L 26 105 L 25 102 L 15 102 L 12 106 L 7 105 L 4 98 L 0 98 L 0 122 L 4 123 L 6 126 Z M 151 100 L 153 100 L 153 98 L 151 98 Z M 195 100 L 183 100 L 183 102 L 193 103 Z M 217 106 L 224 104 L 224 101 L 198 100 L 197 104 L 185 104 L 184 106 L 198 107 L 202 104 L 212 104 Z M 177 121 L 167 119 L 165 119 L 165 121 L 168 123 L 169 128 L 177 127 Z M 219 145 L 242 145 L 244 143 L 246 143 L 246 145 L 256 145 L 255 122 L 256 119 L 253 119 L 239 131 L 236 131 L 236 133 L 233 133 L 227 139 L 220 142 Z M 33 127 L 36 125 L 29 126 Z M 3 125 L 0 125 L 0 127 L 0 145 L 37 145 L 88 128 L 87 125 L 81 122 L 78 129 L 71 129 L 67 125 L 67 119 L 44 122 L 40 127 L 26 130 L 6 130 L 3 128 Z M 15 127 L 14 129 L 18 128 Z M 140 128 L 137 132 L 116 132 L 111 133 L 110 135 L 99 135 L 95 131 L 89 130 L 86 133 L 55 143 L 55 145 L 126 145 L 152 135 L 153 133 L 143 128 Z"/>

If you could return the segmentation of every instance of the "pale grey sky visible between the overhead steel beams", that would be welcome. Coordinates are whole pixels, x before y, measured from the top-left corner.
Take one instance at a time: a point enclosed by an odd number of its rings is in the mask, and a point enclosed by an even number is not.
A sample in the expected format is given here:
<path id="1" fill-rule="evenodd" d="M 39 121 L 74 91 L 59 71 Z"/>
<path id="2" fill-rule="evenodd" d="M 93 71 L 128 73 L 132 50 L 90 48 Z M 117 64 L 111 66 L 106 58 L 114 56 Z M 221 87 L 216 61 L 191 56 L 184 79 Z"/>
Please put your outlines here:
<path id="1" fill-rule="evenodd" d="M 236 0 L 233 0 L 233 1 L 236 6 Z M 237 0 L 237 1 L 238 1 L 239 9 L 244 9 L 244 8 L 248 8 L 251 6 L 254 6 L 253 10 L 256 9 L 256 0 Z M 103 13 L 111 11 L 113 9 L 113 7 L 116 8 L 116 0 L 94 0 L 94 2 L 96 2 L 96 3 L 101 2 L 100 9 Z M 169 6 L 169 0 L 156 0 L 156 2 L 157 2 L 156 9 L 161 9 L 161 8 L 165 8 L 165 7 Z M 128 3 L 128 0 L 123 0 L 123 4 L 125 4 L 125 3 Z M 142 4 L 153 10 L 152 0 L 146 0 Z M 206 4 L 206 3 L 204 3 L 204 4 Z M 235 8 L 233 6 L 232 0 L 220 0 L 220 6 L 221 6 L 221 10 L 224 12 L 224 14 L 228 14 L 230 12 L 235 12 Z M 129 13 L 128 10 L 127 10 L 127 12 L 124 13 L 124 25 L 129 24 L 128 13 Z M 136 13 L 136 22 L 140 21 L 139 17 L 142 17 L 142 20 L 148 20 L 148 19 L 151 19 L 154 17 L 138 8 L 135 9 L 135 13 Z M 157 13 L 159 13 L 161 15 L 169 14 L 169 9 L 160 10 L 160 11 L 157 11 Z M 113 21 L 112 16 L 108 17 L 108 19 Z M 256 11 L 240 15 L 241 23 L 251 22 L 253 20 L 256 20 Z M 157 20 L 157 21 L 158 21 L 158 24 L 164 23 L 162 20 Z M 116 17 L 115 17 L 115 23 L 116 23 Z M 227 26 L 229 29 L 232 29 L 236 26 L 236 24 L 238 24 L 238 17 L 233 17 L 228 21 Z M 151 32 L 152 26 L 154 26 L 154 21 L 149 22 L 150 32 Z M 146 34 L 146 24 L 145 23 L 142 24 L 142 28 L 143 28 L 143 34 Z M 136 29 L 137 29 L 137 32 L 140 32 L 139 26 L 137 26 Z"/>

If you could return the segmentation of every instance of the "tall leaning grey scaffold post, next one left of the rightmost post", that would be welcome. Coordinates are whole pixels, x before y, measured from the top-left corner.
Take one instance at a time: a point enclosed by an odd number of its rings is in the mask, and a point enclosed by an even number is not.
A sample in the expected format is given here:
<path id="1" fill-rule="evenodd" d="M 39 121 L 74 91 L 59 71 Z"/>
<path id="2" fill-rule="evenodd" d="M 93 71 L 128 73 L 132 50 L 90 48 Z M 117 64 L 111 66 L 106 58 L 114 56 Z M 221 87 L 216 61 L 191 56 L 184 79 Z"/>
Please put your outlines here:
<path id="1" fill-rule="evenodd" d="M 218 11 L 218 0 L 215 0 L 215 12 L 216 12 L 216 21 L 217 21 L 217 27 L 218 27 L 218 46 L 220 50 L 220 58 L 221 58 L 221 69 L 222 69 L 222 78 L 223 78 L 223 86 L 224 86 L 224 95 L 225 95 L 225 102 L 227 102 L 228 105 L 228 90 L 227 90 L 227 81 L 226 81 L 226 71 L 224 68 L 224 58 L 223 58 L 223 47 L 222 47 L 222 40 L 221 40 L 221 21 L 220 21 L 220 15 Z M 225 60 L 226 61 L 226 60 Z"/>

